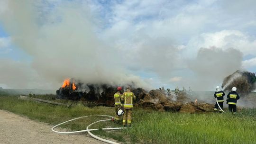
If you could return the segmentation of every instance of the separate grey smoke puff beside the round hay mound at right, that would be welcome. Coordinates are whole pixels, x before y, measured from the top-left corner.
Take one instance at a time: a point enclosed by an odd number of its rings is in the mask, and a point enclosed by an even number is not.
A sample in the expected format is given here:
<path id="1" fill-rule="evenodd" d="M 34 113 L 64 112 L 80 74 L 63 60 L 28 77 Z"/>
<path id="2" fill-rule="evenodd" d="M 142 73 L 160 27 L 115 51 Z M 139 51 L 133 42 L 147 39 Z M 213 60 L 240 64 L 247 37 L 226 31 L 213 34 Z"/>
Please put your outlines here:
<path id="1" fill-rule="evenodd" d="M 213 84 L 221 84 L 222 80 L 242 66 L 243 54 L 233 48 L 222 50 L 216 47 L 201 48 L 196 59 L 188 63 L 195 73 L 191 80 L 197 90 L 214 89 Z"/>

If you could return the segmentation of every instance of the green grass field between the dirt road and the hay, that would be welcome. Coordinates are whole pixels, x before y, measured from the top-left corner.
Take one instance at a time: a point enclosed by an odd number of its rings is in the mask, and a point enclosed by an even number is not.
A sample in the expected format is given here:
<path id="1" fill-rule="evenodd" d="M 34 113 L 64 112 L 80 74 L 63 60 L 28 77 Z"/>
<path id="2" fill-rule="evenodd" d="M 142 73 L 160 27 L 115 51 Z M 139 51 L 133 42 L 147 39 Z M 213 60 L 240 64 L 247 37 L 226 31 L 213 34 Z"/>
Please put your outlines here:
<path id="1" fill-rule="evenodd" d="M 0 96 L 0 108 L 52 125 L 88 115 L 113 115 L 110 107 L 85 107 L 82 103 L 67 108 L 16 96 Z M 86 129 L 90 123 L 107 119 L 89 117 L 62 127 Z M 113 122 L 102 122 L 91 128 L 119 127 Z M 237 115 L 203 113 L 182 114 L 157 112 L 135 108 L 133 126 L 125 130 L 93 131 L 93 134 L 116 139 L 121 143 L 140 144 L 256 144 L 256 108 L 242 109 Z"/>

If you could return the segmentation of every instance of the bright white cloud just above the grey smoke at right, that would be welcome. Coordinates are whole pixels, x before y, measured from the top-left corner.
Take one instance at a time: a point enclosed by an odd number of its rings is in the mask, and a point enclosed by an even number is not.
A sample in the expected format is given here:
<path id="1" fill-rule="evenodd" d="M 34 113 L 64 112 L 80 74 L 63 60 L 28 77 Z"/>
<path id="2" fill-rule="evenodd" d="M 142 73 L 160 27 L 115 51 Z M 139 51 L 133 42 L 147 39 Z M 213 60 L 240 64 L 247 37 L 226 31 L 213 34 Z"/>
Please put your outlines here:
<path id="1" fill-rule="evenodd" d="M 186 45 L 187 55 L 194 56 L 201 47 L 218 47 L 223 50 L 235 48 L 243 54 L 256 54 L 256 39 L 238 30 L 221 30 L 214 33 L 202 33 L 193 37 Z"/>

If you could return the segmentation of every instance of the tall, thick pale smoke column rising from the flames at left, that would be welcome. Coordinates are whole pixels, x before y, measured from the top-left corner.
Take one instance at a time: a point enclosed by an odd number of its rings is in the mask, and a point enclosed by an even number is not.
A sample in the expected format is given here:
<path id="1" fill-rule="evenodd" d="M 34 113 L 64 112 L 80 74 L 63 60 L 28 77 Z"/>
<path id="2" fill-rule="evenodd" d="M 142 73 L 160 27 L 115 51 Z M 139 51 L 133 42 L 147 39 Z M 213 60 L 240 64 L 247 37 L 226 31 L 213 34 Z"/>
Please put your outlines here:
<path id="1" fill-rule="evenodd" d="M 133 82 L 137 87 L 149 87 L 139 77 L 129 75 L 120 63 L 122 54 L 97 38 L 95 21 L 86 3 L 66 1 L 51 6 L 40 0 L 5 0 L 2 4 L 5 9 L 0 13 L 0 21 L 12 42 L 32 56 L 36 77 L 52 81 L 54 89 L 65 78 L 116 85 Z M 13 70 L 18 69 L 13 66 Z M 2 76 L 10 76 L 8 72 L 0 72 Z M 26 82 L 37 81 L 30 72 L 17 73 L 29 77 Z M 26 77 L 15 79 L 17 86 Z"/>

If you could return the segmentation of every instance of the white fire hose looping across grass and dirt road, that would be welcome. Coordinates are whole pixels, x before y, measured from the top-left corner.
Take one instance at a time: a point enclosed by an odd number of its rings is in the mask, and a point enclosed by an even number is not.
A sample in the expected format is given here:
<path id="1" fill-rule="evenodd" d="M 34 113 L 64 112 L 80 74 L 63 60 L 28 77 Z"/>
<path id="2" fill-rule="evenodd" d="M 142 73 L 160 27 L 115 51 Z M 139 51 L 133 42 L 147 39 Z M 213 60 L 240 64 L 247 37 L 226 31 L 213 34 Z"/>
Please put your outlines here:
<path id="1" fill-rule="evenodd" d="M 111 116 L 107 116 L 107 115 L 94 115 L 94 116 L 101 116 L 101 117 L 111 117 Z M 84 116 L 84 117 L 94 117 L 94 116 Z M 94 123 L 91 123 L 89 126 L 86 127 L 85 130 L 80 130 L 80 131 L 73 131 L 73 132 L 59 132 L 59 131 L 56 131 L 54 130 L 57 126 L 60 126 L 60 125 L 63 125 L 67 122 L 70 122 L 70 121 L 73 121 L 73 120 L 76 120 L 76 119 L 80 119 L 80 118 L 84 118 L 84 117 L 77 117 L 77 118 L 74 118 L 74 119 L 71 119 L 71 120 L 68 120 L 68 121 L 65 121 L 63 123 L 60 123 L 54 127 L 52 127 L 52 131 L 55 132 L 55 133 L 58 133 L 58 134 L 76 134 L 76 133 L 82 133 L 82 132 L 87 132 L 89 135 L 91 135 L 91 137 L 97 139 L 97 140 L 100 140 L 102 142 L 105 142 L 105 143 L 109 143 L 109 144 L 119 144 L 119 143 L 116 143 L 116 142 L 113 142 L 113 141 L 110 141 L 110 140 L 106 140 L 106 139 L 103 139 L 103 138 L 100 138 L 96 135 L 93 135 L 91 134 L 90 131 L 95 131 L 95 130 L 116 130 L 116 129 L 124 129 L 126 127 L 111 127 L 111 128 L 96 128 L 96 129 L 89 129 L 90 126 L 96 124 L 96 123 L 99 123 L 99 122 L 102 122 L 102 121 L 109 121 L 111 119 L 103 119 L 103 120 L 99 120 L 99 121 L 96 121 Z M 113 118 L 113 117 L 111 117 Z"/>

